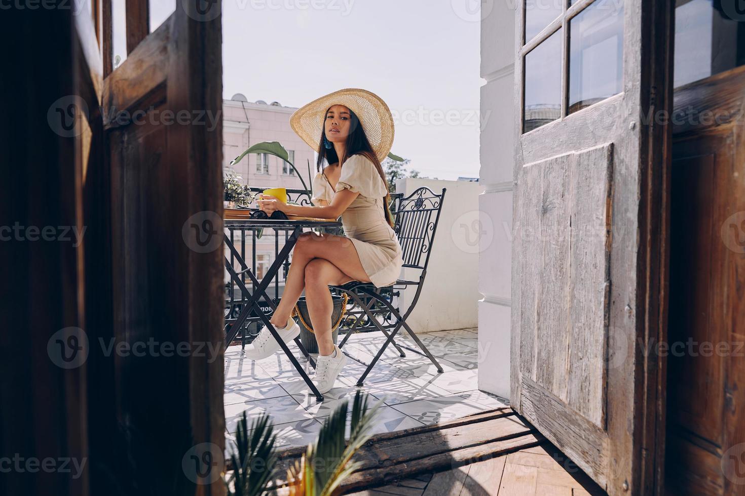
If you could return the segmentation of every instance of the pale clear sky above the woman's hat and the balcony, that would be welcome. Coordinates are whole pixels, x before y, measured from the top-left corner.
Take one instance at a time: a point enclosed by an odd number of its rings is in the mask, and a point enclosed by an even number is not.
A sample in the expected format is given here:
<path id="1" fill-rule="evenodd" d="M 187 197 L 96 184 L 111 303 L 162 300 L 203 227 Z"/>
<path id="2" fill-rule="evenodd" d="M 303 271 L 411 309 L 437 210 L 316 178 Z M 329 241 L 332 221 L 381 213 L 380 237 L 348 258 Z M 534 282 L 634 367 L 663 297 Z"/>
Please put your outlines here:
<path id="1" fill-rule="evenodd" d="M 431 178 L 478 177 L 478 0 L 223 0 L 223 96 L 299 107 L 365 88 L 393 153 Z M 475 18 L 474 18 L 475 17 Z"/>

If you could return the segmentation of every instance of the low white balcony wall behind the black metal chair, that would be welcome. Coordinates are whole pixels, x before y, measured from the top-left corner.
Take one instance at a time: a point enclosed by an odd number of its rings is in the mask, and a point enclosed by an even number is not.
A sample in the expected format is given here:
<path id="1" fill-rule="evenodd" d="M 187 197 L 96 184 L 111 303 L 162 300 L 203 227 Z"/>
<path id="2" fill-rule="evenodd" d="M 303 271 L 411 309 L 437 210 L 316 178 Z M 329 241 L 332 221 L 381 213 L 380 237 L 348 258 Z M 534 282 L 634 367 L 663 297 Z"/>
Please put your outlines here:
<path id="1" fill-rule="evenodd" d="M 443 210 L 427 268 L 422 294 L 407 323 L 420 332 L 476 327 L 478 324 L 478 201 L 484 190 L 478 182 L 402 178 L 396 191 L 410 195 L 418 187 L 435 193 L 446 188 Z M 418 280 L 421 271 L 403 268 L 402 279 Z M 402 294 L 408 309 L 415 289 Z M 509 322 L 509 319 L 508 319 Z"/>

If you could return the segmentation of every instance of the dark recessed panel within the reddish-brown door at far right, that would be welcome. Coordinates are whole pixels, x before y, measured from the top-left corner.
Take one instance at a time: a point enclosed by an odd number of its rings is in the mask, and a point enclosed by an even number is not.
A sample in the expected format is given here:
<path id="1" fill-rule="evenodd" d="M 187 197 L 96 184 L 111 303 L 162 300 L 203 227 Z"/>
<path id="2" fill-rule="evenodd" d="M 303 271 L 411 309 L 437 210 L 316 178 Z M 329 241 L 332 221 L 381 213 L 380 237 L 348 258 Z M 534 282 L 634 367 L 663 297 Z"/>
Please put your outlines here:
<path id="1" fill-rule="evenodd" d="M 726 338 L 721 323 L 713 321 L 715 314 L 710 312 L 712 292 L 716 291 L 711 275 L 719 270 L 712 262 L 720 246 L 713 216 L 714 164 L 717 167 L 731 164 L 732 153 L 726 140 L 720 138 L 688 141 L 685 148 L 688 153 L 680 148 L 674 151 L 672 175 L 671 235 L 673 242 L 677 242 L 671 252 L 671 265 L 678 270 L 671 273 L 671 304 L 675 310 L 669 319 L 669 337 L 671 344 L 676 345 L 671 349 L 668 367 L 676 380 L 668 387 L 668 399 L 680 408 L 671 410 L 668 422 L 671 427 L 679 425 L 702 440 L 713 442 L 712 448 L 718 449 L 722 442 L 720 419 L 708 413 L 721 411 L 724 406 L 723 358 L 715 353 L 708 357 L 700 355 L 688 363 L 679 358 L 682 353 L 700 353 L 697 344 L 718 343 Z M 692 281 L 696 283 L 691 285 Z M 686 286 L 692 291 L 678 297 L 679 289 Z M 690 346 L 686 344 L 689 339 Z M 679 402 L 691 395 L 697 400 Z"/>

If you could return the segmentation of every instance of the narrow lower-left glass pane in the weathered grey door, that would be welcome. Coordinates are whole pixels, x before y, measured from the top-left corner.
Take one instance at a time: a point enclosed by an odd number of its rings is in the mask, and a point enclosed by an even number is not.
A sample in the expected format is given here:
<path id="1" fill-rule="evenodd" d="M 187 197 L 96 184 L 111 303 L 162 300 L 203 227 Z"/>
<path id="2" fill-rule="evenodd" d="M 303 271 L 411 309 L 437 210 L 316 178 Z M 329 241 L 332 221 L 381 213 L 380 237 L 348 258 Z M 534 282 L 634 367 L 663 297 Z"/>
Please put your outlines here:
<path id="1" fill-rule="evenodd" d="M 562 30 L 525 55 L 523 132 L 543 126 L 561 115 Z"/>

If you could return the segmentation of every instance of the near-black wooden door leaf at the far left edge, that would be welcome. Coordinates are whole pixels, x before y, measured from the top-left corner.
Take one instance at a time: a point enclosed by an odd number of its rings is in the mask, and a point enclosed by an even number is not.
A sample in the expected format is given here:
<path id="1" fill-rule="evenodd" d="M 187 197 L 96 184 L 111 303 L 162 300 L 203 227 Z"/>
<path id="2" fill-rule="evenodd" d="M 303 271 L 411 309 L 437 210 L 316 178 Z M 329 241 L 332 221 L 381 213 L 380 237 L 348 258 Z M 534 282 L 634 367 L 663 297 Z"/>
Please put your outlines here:
<path id="1" fill-rule="evenodd" d="M 83 198 L 100 173 L 101 59 L 92 17 L 33 7 L 0 14 L 13 47 L 0 56 L 0 494 L 86 496 L 90 362 L 57 344 L 91 330 L 84 257 L 99 232 Z"/>

